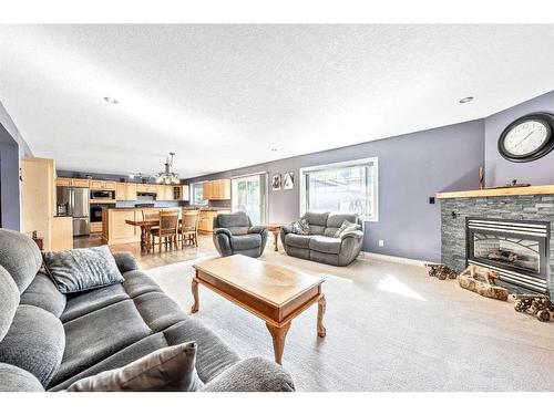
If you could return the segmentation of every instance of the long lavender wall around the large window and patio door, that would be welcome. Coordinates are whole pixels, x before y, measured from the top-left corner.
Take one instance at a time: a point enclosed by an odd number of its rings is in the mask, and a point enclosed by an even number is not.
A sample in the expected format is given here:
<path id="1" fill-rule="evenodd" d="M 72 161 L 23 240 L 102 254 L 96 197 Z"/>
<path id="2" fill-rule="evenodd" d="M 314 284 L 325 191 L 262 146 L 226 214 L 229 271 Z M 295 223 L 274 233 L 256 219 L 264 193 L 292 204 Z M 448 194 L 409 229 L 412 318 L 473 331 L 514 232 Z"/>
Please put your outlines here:
<path id="1" fill-rule="evenodd" d="M 286 158 L 188 179 L 187 183 L 248 173 L 294 172 L 301 167 L 379 157 L 379 221 L 366 224 L 363 250 L 440 261 L 441 218 L 437 191 L 479 186 L 484 164 L 483 121 L 473 121 L 355 146 Z M 269 191 L 269 221 L 288 222 L 299 215 L 299 187 Z M 384 247 L 378 240 L 384 240 Z"/>

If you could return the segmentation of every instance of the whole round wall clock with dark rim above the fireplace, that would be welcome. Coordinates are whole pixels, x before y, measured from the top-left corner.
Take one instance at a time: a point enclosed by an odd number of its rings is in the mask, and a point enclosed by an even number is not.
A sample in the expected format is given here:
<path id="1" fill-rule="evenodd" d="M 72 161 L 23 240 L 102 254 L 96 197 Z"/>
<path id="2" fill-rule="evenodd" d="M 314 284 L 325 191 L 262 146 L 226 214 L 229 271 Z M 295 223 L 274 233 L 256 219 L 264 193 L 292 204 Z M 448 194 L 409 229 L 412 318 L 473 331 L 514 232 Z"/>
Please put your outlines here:
<path id="1" fill-rule="evenodd" d="M 501 134 L 499 152 L 511 162 L 532 162 L 554 148 L 554 115 L 533 113 L 515 120 Z"/>

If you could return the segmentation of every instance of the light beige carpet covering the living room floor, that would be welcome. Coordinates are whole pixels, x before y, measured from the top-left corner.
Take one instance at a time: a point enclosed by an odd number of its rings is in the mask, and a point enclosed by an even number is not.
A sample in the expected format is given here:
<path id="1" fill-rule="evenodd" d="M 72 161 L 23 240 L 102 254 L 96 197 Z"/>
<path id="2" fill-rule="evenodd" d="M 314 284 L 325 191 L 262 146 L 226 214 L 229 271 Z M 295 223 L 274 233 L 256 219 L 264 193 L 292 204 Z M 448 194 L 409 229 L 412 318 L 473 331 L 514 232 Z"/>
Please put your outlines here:
<path id="1" fill-rule="evenodd" d="M 203 259 L 198 259 L 203 260 Z M 266 251 L 263 260 L 324 274 L 317 307 L 293 321 L 284 367 L 300 391 L 553 391 L 554 323 L 439 281 L 423 267 L 358 260 L 347 268 Z M 194 261 L 150 269 L 187 312 Z M 201 286 L 202 320 L 242 356 L 273 359 L 265 323 Z"/>

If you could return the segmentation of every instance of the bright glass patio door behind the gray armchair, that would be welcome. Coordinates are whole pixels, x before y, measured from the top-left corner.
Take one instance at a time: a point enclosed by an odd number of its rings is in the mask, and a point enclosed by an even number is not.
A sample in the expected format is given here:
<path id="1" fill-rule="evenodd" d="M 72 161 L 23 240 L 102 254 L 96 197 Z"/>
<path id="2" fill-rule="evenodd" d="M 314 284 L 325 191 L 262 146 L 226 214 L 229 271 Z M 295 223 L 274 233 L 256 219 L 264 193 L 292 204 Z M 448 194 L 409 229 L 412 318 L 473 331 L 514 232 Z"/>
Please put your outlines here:
<path id="1" fill-rule="evenodd" d="M 233 211 L 244 211 L 253 225 L 266 224 L 267 174 L 234 177 L 230 179 L 230 203 Z"/>

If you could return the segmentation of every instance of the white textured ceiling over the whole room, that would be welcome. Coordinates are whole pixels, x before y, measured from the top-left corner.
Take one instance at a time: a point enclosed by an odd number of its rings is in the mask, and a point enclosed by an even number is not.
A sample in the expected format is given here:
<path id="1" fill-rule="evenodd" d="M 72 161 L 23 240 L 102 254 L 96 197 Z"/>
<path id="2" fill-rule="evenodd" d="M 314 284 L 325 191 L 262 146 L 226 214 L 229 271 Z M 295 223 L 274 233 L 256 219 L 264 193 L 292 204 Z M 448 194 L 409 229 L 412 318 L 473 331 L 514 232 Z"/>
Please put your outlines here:
<path id="1" fill-rule="evenodd" d="M 553 86 L 554 25 L 0 27 L 0 101 L 62 169 L 155 174 L 173 151 L 193 177 L 480 118 Z"/>

